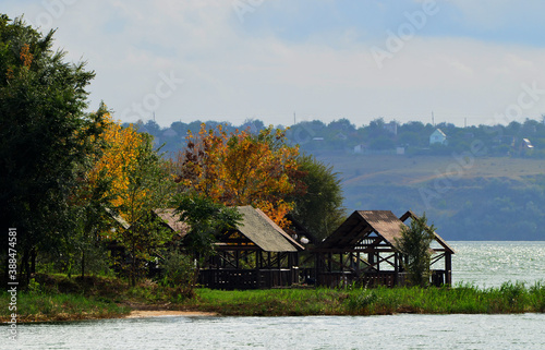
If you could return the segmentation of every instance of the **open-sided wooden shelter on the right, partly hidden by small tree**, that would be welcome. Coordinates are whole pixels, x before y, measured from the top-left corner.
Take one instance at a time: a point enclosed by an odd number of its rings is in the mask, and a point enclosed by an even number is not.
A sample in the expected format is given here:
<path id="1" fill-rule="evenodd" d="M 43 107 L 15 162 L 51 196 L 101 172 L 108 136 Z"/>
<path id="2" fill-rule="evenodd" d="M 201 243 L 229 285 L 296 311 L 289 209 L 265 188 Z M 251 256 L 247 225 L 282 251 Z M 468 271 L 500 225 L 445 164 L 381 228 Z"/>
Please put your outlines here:
<path id="1" fill-rule="evenodd" d="M 397 248 L 403 222 L 416 216 L 407 212 L 398 218 L 389 210 L 356 210 L 327 239 L 313 249 L 318 286 L 339 286 L 353 281 L 364 286 L 403 285 L 403 258 Z M 434 232 L 435 233 L 435 232 Z M 432 245 L 432 282 L 451 283 L 451 255 L 455 251 L 435 233 Z"/>

